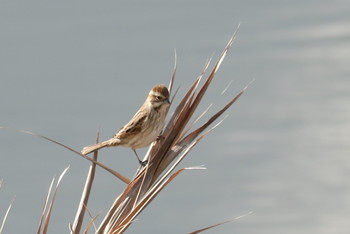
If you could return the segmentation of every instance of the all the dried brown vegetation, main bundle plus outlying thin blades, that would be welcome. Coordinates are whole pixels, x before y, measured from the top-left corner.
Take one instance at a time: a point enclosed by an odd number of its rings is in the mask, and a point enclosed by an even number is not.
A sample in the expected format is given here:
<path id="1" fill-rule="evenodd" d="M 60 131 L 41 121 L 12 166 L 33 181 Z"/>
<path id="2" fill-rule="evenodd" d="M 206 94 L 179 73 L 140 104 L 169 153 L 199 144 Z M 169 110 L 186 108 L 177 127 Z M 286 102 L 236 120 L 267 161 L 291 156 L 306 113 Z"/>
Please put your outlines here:
<path id="1" fill-rule="evenodd" d="M 128 179 L 116 172 L 115 170 L 103 165 L 98 162 L 98 152 L 95 152 L 93 157 L 82 155 L 80 152 L 62 144 L 51 138 L 34 134 L 28 131 L 16 130 L 24 132 L 27 134 L 39 136 L 55 144 L 63 146 L 70 151 L 78 154 L 81 157 L 91 161 L 90 170 L 88 172 L 85 187 L 82 193 L 81 201 L 76 213 L 75 220 L 73 224 L 70 225 L 71 233 L 88 233 L 93 231 L 95 233 L 123 233 L 135 220 L 135 218 L 144 210 L 147 205 L 158 195 L 162 189 L 169 184 L 175 177 L 177 177 L 184 170 L 190 169 L 204 169 L 203 167 L 190 167 L 177 169 L 178 164 L 184 159 L 184 157 L 189 153 L 189 151 L 204 137 L 210 130 L 215 128 L 221 121 L 219 121 L 214 126 L 213 123 L 220 117 L 231 105 L 242 95 L 245 89 L 234 96 L 228 103 L 222 107 L 213 116 L 208 118 L 204 123 L 198 128 L 193 129 L 194 122 L 193 115 L 196 113 L 197 107 L 200 104 L 204 94 L 206 93 L 208 87 L 210 86 L 217 70 L 219 69 L 223 59 L 225 58 L 229 48 L 231 47 L 236 32 L 229 40 L 222 54 L 220 55 L 217 62 L 214 64 L 212 70 L 208 73 L 207 77 L 204 79 L 204 75 L 207 73 L 210 61 L 208 61 L 201 74 L 195 79 L 193 84 L 189 87 L 188 91 L 185 93 L 184 97 L 179 101 L 179 104 L 174 108 L 172 115 L 169 117 L 161 140 L 157 140 L 150 146 L 145 158 L 148 159 L 147 165 L 140 167 L 134 178 Z M 169 84 L 169 91 L 172 93 L 173 84 L 176 75 L 176 63 L 173 70 L 173 75 Z M 172 95 L 172 99 L 176 96 L 176 93 Z M 172 102 L 173 103 L 173 102 Z M 200 115 L 199 118 L 203 118 L 205 113 Z M 210 127 L 211 126 L 211 127 Z M 210 127 L 208 129 L 208 127 Z M 4 128 L 4 127 L 1 127 Z M 96 142 L 98 142 L 98 135 Z M 100 166 L 118 179 L 126 183 L 124 191 L 115 199 L 111 205 L 109 211 L 105 214 L 99 225 L 96 225 L 97 216 L 93 217 L 88 212 L 88 200 L 89 195 L 92 190 L 93 181 L 95 177 L 96 166 Z M 68 168 L 67 168 L 68 169 Z M 67 170 L 66 169 L 66 170 Z M 46 233 L 50 223 L 51 213 L 53 211 L 53 204 L 56 197 L 56 191 L 59 182 L 66 170 L 59 177 L 56 186 L 54 186 L 54 180 L 51 183 L 48 195 L 44 202 L 42 209 L 42 215 L 38 227 L 38 233 Z M 1 183 L 0 183 L 1 185 Z M 9 210 L 8 210 L 9 211 Z M 8 213 L 7 211 L 7 213 Z M 7 216 L 6 213 L 6 216 Z M 84 216 L 86 213 L 90 217 L 90 221 L 83 228 Z M 5 222 L 6 216 L 3 220 Z M 100 217 L 99 217 L 100 218 Z M 225 222 L 223 222 L 225 223 Z M 3 228 L 3 224 L 0 226 L 0 233 Z M 219 224 L 218 224 L 219 225 Z M 215 227 L 216 225 L 203 228 L 193 233 L 199 233 L 208 228 Z"/>

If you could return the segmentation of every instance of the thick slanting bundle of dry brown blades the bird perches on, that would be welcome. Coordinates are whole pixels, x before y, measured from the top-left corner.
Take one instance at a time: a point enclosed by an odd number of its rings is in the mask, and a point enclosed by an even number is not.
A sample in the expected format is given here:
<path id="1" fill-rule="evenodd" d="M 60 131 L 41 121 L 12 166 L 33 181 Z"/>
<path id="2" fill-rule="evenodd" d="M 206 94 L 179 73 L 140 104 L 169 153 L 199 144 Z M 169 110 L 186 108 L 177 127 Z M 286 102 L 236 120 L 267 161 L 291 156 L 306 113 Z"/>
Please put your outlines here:
<path id="1" fill-rule="evenodd" d="M 188 152 L 218 124 L 205 133 L 203 131 L 209 125 L 213 124 L 243 94 L 245 89 L 238 93 L 202 126 L 187 134 L 192 126 L 189 124 L 192 116 L 231 47 L 236 32 L 229 40 L 221 56 L 215 63 L 214 68 L 204 81 L 204 84 L 200 87 L 200 81 L 208 68 L 209 61 L 205 64 L 202 73 L 197 77 L 175 108 L 172 117 L 164 129 L 163 138 L 151 145 L 146 155 L 149 163 L 138 171 L 124 192 L 115 200 L 98 228 L 97 233 L 122 233 L 125 231 L 157 194 L 184 170 L 181 169 L 175 173 L 173 172 Z M 174 80 L 174 74 L 175 72 L 171 78 L 171 85 Z"/>

